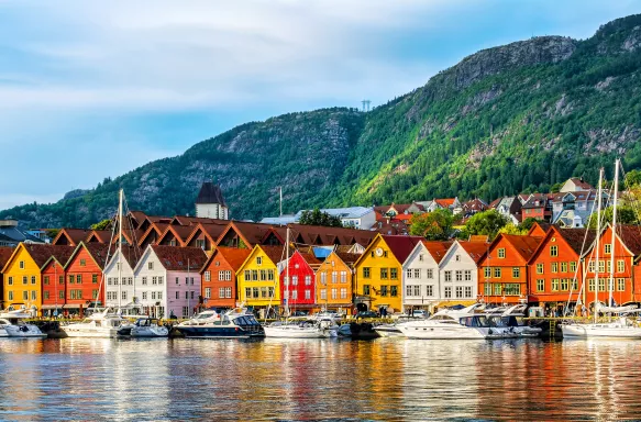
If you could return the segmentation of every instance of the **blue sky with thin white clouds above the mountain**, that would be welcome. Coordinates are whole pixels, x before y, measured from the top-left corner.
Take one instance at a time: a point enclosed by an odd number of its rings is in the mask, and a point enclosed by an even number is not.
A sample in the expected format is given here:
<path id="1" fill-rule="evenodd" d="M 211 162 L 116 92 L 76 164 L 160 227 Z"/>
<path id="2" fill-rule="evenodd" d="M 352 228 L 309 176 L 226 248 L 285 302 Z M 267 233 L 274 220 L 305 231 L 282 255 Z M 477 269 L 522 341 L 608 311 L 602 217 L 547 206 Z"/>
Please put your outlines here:
<path id="1" fill-rule="evenodd" d="M 634 13 L 640 0 L 0 0 L 0 210 L 244 122 L 382 104 L 478 49 L 586 38 Z"/>

